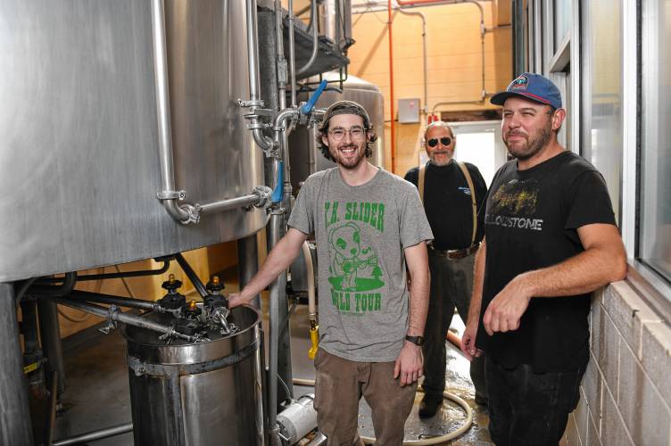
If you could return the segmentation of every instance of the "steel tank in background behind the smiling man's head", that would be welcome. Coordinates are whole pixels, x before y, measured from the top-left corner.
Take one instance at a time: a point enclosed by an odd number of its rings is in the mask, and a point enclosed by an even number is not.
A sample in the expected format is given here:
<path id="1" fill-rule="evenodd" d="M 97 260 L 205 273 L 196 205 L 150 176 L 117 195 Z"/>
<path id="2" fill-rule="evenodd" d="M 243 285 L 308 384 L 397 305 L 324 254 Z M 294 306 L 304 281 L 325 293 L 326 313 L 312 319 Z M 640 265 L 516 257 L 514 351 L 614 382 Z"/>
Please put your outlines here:
<path id="1" fill-rule="evenodd" d="M 329 72 L 324 78 L 336 80 L 340 78 L 337 72 Z M 339 87 L 339 84 L 329 84 Z M 298 96 L 300 101 L 306 101 L 307 94 Z M 343 93 L 327 90 L 319 97 L 317 108 L 327 108 L 332 103 L 347 99 L 360 103 L 369 113 L 370 121 L 377 134 L 377 141 L 371 145 L 373 156 L 369 159 L 376 166 L 385 167 L 385 98 L 380 89 L 370 82 L 349 76 L 344 81 Z M 308 178 L 311 173 L 310 161 L 314 161 L 313 171 L 319 171 L 335 167 L 333 161 L 328 161 L 321 154 L 315 143 L 316 131 L 299 127 L 289 136 L 289 159 L 291 161 L 291 183 L 294 191 L 297 190 L 299 182 Z"/>

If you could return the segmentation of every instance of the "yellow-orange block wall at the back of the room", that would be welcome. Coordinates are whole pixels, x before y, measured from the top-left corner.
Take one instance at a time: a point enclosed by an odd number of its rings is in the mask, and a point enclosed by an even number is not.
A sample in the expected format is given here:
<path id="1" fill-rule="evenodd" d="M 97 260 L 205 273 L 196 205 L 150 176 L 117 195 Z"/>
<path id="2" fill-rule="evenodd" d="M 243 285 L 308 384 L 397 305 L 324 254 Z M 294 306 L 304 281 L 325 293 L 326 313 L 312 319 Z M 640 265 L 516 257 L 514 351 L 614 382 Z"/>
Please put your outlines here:
<path id="1" fill-rule="evenodd" d="M 509 0 L 481 2 L 485 27 L 485 89 L 491 94 L 505 89 L 512 77 Z M 475 4 L 443 4 L 412 8 L 427 18 L 427 102 L 431 111 L 445 101 L 478 101 L 482 97 L 482 55 L 480 12 Z M 393 12 L 394 101 L 418 97 L 424 107 L 422 21 L 417 16 Z M 385 169 L 391 170 L 389 41 L 387 11 L 352 14 L 352 37 L 356 44 L 349 51 L 349 70 L 355 76 L 377 85 L 385 97 Z M 454 103 L 436 111 L 490 110 L 489 103 Z M 398 103 L 395 107 L 398 111 Z M 424 118 L 422 118 L 424 120 Z M 418 165 L 419 141 L 423 124 L 396 126 L 396 169 L 403 176 Z M 378 130 L 379 131 L 379 130 Z"/>

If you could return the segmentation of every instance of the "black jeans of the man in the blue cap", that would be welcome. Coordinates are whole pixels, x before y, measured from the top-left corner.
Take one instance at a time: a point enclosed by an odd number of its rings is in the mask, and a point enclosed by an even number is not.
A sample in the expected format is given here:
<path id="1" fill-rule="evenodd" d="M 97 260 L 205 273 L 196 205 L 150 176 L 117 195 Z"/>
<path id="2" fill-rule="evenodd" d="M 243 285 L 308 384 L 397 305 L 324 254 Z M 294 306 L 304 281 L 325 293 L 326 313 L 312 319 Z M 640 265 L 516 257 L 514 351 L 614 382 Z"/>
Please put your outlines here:
<path id="1" fill-rule="evenodd" d="M 486 357 L 489 433 L 494 444 L 559 444 L 568 414 L 580 400 L 585 367 L 536 373 L 526 364 L 509 369 Z"/>

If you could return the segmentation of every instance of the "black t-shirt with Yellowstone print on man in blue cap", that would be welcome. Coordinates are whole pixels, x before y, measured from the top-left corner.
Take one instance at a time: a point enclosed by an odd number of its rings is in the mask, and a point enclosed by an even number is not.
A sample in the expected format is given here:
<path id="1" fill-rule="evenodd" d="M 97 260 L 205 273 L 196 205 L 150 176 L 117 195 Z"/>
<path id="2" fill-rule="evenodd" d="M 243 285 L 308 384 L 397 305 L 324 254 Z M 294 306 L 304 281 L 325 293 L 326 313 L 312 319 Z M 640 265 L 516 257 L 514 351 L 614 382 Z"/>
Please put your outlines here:
<path id="1" fill-rule="evenodd" d="M 590 295 L 534 298 L 518 330 L 487 335 L 489 302 L 514 277 L 547 268 L 583 252 L 577 228 L 615 225 L 606 183 L 592 164 L 564 152 L 532 169 L 506 163 L 486 200 L 485 286 L 476 344 L 505 367 L 561 371 L 589 360 Z"/>

